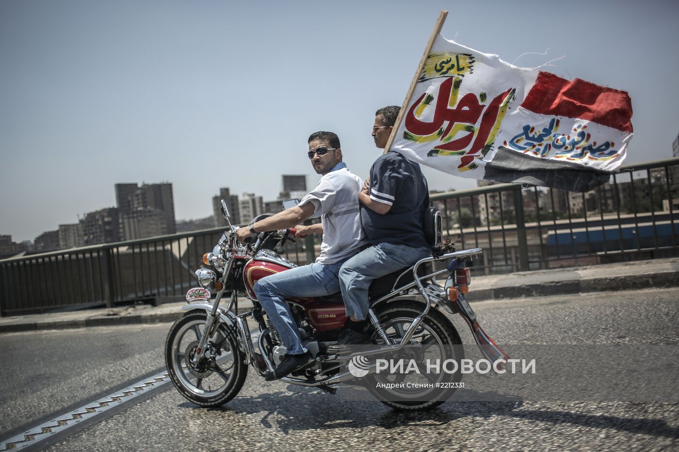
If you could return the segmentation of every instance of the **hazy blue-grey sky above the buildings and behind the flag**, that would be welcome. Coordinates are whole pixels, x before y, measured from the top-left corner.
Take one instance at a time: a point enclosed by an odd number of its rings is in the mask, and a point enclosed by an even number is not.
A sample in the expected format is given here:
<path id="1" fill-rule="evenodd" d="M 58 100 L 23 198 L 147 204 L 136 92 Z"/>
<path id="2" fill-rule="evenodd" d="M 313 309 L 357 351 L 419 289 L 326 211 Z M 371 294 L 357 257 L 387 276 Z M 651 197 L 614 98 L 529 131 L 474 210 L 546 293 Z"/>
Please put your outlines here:
<path id="1" fill-rule="evenodd" d="M 374 112 L 401 105 L 440 10 L 480 52 L 629 92 L 625 163 L 672 156 L 678 1 L 0 1 L 0 234 L 33 240 L 115 206 L 113 185 L 170 181 L 177 219 L 219 187 L 275 199 L 331 130 L 350 170 L 380 155 Z M 433 189 L 475 186 L 426 170 Z"/>

